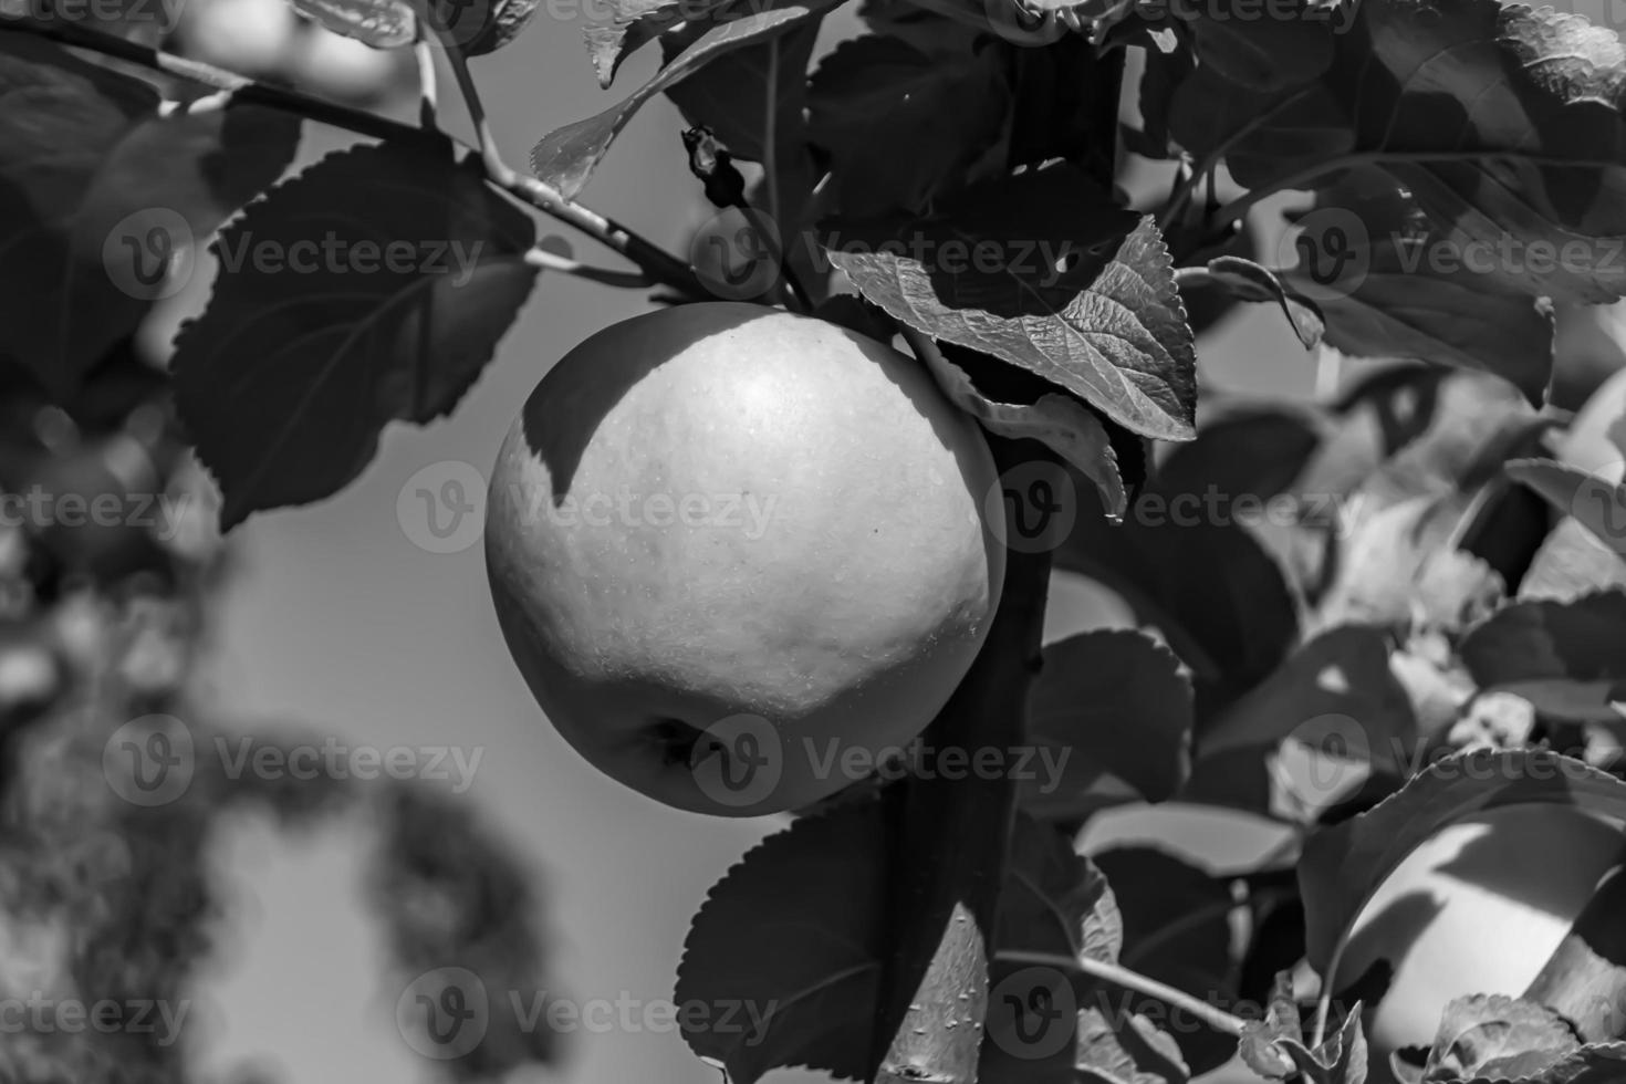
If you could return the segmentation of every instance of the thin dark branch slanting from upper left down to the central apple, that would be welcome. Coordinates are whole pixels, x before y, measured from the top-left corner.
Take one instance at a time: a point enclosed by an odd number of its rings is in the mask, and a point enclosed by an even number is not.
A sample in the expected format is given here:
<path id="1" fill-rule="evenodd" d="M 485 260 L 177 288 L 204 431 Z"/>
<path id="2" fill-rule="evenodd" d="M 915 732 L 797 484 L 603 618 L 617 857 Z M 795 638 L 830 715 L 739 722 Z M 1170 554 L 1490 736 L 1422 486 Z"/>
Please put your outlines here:
<path id="1" fill-rule="evenodd" d="M 233 98 L 239 102 L 265 106 L 267 109 L 276 109 L 280 112 L 291 112 L 304 117 L 306 120 L 315 120 L 317 124 L 345 128 L 346 132 L 354 132 L 356 135 L 374 140 L 397 140 L 410 143 L 415 140 L 431 138 L 431 133 L 421 128 L 415 128 L 377 114 L 338 106 L 301 91 L 272 86 L 268 83 L 257 83 L 242 75 L 216 68 L 215 65 L 187 60 L 150 46 L 141 46 L 114 34 L 80 26 L 76 23 L 39 23 L 34 20 L 0 16 L 0 31 L 33 34 L 62 46 L 88 49 L 104 57 L 124 60 L 153 72 L 172 75 L 192 83 L 202 83 L 203 86 L 213 86 L 215 89 L 231 91 Z M 434 133 L 433 138 L 439 140 L 450 137 Z M 472 148 L 459 140 L 452 140 L 452 143 L 465 151 L 478 153 L 476 148 Z M 649 281 L 668 286 L 689 297 L 707 296 L 706 288 L 701 284 L 694 270 L 689 268 L 688 263 L 672 255 L 660 245 L 646 241 L 624 226 L 605 218 L 598 211 L 582 206 L 580 203 L 571 203 L 537 177 L 524 177 L 512 174 L 511 171 L 511 176 L 502 179 L 491 177 L 488 174 L 486 180 L 515 200 L 527 203 L 543 215 L 566 223 L 567 226 L 574 226 L 593 241 L 620 252 L 623 257 L 639 265 Z"/>

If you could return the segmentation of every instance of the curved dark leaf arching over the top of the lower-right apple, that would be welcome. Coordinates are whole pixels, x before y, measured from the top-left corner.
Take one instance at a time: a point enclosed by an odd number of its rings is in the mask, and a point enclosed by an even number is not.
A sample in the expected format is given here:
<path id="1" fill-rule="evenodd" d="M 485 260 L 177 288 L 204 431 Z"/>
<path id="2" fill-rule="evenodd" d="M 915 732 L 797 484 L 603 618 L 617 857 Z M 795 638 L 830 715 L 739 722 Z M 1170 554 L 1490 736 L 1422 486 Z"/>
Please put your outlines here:
<path id="1" fill-rule="evenodd" d="M 1338 939 L 1421 842 L 1483 809 L 1572 804 L 1626 816 L 1626 782 L 1546 749 L 1470 749 L 1436 761 L 1372 809 L 1309 837 L 1299 861 L 1306 956 L 1327 975 Z"/>

